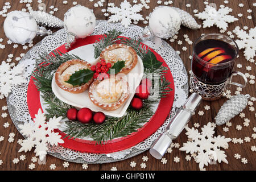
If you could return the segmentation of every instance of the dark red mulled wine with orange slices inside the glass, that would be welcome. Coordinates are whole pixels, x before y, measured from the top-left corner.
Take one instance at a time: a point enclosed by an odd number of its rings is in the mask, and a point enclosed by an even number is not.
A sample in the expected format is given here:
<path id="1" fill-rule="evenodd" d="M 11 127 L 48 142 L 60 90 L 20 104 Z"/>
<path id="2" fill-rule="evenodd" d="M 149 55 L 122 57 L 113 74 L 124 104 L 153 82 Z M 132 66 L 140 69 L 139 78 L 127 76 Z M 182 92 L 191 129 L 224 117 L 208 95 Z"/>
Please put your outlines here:
<path id="1" fill-rule="evenodd" d="M 192 72 L 205 84 L 220 84 L 232 75 L 236 55 L 235 47 L 223 40 L 197 40 L 193 47 Z"/>

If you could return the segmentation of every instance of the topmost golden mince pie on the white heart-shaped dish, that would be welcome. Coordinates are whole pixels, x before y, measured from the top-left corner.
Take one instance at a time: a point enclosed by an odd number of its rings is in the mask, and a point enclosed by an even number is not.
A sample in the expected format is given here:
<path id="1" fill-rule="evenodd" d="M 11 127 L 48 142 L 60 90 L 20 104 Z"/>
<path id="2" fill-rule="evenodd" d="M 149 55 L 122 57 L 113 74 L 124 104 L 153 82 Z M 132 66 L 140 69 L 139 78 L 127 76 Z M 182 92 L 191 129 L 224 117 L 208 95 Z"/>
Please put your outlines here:
<path id="1" fill-rule="evenodd" d="M 100 59 L 104 59 L 106 63 L 111 63 L 112 66 L 117 61 L 125 61 L 125 67 L 119 73 L 129 73 L 138 62 L 138 55 L 136 51 L 124 44 L 113 44 L 106 47 L 100 55 Z"/>

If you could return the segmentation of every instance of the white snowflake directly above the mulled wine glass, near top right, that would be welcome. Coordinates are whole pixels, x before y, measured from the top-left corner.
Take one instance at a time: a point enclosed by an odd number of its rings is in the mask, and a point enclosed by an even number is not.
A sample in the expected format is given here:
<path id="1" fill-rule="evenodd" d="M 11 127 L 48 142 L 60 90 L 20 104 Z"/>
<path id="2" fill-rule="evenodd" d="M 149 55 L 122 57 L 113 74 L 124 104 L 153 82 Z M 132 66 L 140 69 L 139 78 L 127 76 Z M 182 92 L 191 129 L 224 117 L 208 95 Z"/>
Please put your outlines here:
<path id="1" fill-rule="evenodd" d="M 238 20 L 234 16 L 228 15 L 230 12 L 232 9 L 229 7 L 220 7 L 217 11 L 214 7 L 207 5 L 202 13 L 195 14 L 195 16 L 204 20 L 203 28 L 216 25 L 218 28 L 226 30 L 228 23 Z"/>

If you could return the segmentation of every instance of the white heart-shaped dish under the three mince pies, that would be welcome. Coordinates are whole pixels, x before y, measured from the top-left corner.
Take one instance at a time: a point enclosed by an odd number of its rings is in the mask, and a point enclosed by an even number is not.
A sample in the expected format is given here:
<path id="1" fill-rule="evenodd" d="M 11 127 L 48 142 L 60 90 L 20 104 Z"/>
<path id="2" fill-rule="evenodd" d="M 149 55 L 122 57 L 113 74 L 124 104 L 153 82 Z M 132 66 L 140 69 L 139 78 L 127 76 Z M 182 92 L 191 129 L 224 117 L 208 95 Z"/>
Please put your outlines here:
<path id="1" fill-rule="evenodd" d="M 88 44 L 85 46 L 78 47 L 76 49 L 73 49 L 72 51 L 69 51 L 68 53 L 74 54 L 79 56 L 81 59 L 88 61 L 90 64 L 96 64 L 98 59 L 94 59 L 94 47 L 93 44 Z M 141 58 L 138 56 L 138 63 L 134 67 L 134 69 L 127 74 L 128 76 L 128 83 L 129 83 L 129 89 L 132 91 L 128 100 L 123 104 L 121 107 L 119 107 L 116 110 L 104 110 L 100 107 L 94 105 L 92 101 L 90 101 L 90 98 L 88 96 L 88 90 L 85 90 L 85 92 L 79 93 L 79 94 L 73 94 L 70 92 L 67 92 L 59 86 L 57 86 L 55 82 L 55 77 L 53 76 L 52 79 L 52 92 L 56 95 L 59 100 L 72 105 L 74 107 L 82 108 L 82 107 L 88 107 L 92 111 L 102 111 L 104 114 L 112 116 L 112 117 L 122 117 L 125 114 L 125 111 L 127 110 L 128 106 L 130 105 L 131 100 L 133 99 L 135 89 L 141 82 L 142 76 L 144 72 L 144 67 Z"/>

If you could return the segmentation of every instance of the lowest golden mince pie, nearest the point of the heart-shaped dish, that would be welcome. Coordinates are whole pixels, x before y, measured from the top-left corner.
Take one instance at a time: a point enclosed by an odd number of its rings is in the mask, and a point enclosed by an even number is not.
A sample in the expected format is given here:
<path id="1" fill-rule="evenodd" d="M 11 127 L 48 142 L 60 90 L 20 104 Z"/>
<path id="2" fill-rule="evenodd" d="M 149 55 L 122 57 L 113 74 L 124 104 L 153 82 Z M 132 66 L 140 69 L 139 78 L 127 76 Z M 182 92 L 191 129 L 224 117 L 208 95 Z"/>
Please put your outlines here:
<path id="1" fill-rule="evenodd" d="M 129 98 L 129 84 L 118 77 L 95 80 L 90 85 L 89 97 L 94 105 L 105 110 L 115 110 Z"/>

